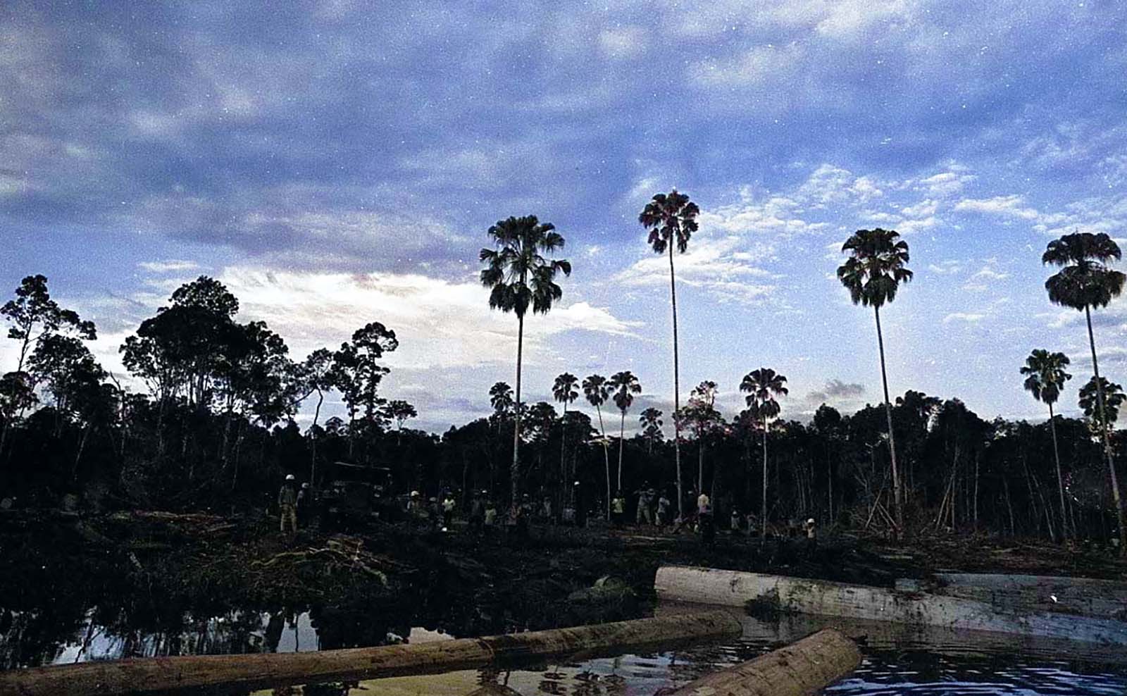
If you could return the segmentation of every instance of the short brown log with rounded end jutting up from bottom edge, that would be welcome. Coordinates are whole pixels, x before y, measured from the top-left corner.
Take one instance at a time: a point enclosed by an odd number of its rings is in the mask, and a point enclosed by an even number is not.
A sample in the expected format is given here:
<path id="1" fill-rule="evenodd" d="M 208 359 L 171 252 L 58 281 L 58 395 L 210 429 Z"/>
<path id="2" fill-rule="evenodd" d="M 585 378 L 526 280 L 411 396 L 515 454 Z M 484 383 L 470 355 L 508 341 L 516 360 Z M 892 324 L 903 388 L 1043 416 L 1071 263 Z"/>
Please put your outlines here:
<path id="1" fill-rule="evenodd" d="M 797 643 L 701 677 L 669 696 L 813 696 L 861 666 L 861 651 L 826 628 Z"/>

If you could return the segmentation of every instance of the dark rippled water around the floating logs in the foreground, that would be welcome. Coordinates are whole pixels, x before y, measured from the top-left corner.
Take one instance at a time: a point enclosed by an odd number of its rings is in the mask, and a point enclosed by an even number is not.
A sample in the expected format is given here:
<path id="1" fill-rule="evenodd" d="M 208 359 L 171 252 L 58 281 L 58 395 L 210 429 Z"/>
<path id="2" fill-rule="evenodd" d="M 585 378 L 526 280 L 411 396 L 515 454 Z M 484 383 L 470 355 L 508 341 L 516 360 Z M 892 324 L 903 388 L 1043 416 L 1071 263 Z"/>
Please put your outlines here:
<path id="1" fill-rule="evenodd" d="M 658 614 L 692 610 L 660 606 Z M 130 626 L 119 609 L 88 609 L 59 617 L 37 612 L 0 610 L 0 660 L 7 668 L 85 660 L 167 654 L 292 652 L 397 637 L 409 642 L 450 640 L 434 627 L 408 627 L 374 617 L 325 610 L 225 612 L 180 615 L 163 630 Z M 397 619 L 398 621 L 398 619 Z M 726 666 L 762 654 L 826 625 L 864 637 L 864 662 L 827 689 L 853 695 L 1127 695 L 1127 654 L 1086 650 L 1068 643 L 1030 642 L 1000 635 L 919 631 L 886 624 L 842 623 L 790 617 L 780 623 L 744 619 L 738 641 L 717 645 L 628 654 L 583 662 L 535 663 L 508 672 L 462 671 L 434 677 L 367 681 L 358 686 L 308 687 L 305 694 L 432 695 L 651 695 L 682 686 Z M 52 631 L 54 633 L 52 634 Z M 483 686 L 491 685 L 491 686 Z M 270 694 L 269 690 L 260 691 Z M 278 689 L 301 694 L 301 689 Z"/>

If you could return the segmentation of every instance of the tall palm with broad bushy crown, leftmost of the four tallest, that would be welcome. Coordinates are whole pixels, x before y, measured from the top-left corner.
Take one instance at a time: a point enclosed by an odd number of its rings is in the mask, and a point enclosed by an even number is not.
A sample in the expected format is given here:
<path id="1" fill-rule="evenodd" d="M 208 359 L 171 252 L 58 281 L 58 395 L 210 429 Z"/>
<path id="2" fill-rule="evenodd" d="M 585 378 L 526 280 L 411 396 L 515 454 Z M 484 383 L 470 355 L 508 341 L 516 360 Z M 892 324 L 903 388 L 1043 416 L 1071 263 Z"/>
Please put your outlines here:
<path id="1" fill-rule="evenodd" d="M 516 314 L 516 417 L 513 421 L 513 466 L 509 470 L 513 505 L 518 500 L 521 448 L 521 358 L 524 348 L 524 314 L 532 306 L 534 314 L 547 314 L 552 303 L 564 296 L 556 275 L 571 275 L 571 264 L 548 259 L 564 248 L 564 238 L 551 223 L 541 223 L 535 215 L 509 217 L 489 227 L 495 249 L 482 249 L 481 284 L 490 288 L 489 307 Z"/>

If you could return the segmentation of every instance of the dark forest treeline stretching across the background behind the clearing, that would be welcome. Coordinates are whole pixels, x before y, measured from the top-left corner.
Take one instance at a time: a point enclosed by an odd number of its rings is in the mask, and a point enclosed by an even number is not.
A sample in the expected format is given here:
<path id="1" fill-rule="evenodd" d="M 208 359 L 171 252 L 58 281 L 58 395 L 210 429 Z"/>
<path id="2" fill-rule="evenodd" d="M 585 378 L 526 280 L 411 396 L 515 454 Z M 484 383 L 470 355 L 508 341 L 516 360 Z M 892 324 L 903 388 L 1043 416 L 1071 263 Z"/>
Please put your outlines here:
<path id="1" fill-rule="evenodd" d="M 518 443 L 511 437 L 516 400 L 503 382 L 482 394 L 489 417 L 437 436 L 409 428 L 415 409 L 381 392 L 389 372 L 382 358 L 398 348 L 392 329 L 372 322 L 337 349 L 295 359 L 265 323 L 240 322 L 238 310 L 212 278 L 178 288 L 121 348 L 130 384 L 145 385 L 139 393 L 88 349 L 96 327 L 60 307 L 46 278 L 25 278 L 2 307 L 18 364 L 0 378 L 0 498 L 56 505 L 74 493 L 106 507 L 240 509 L 267 505 L 286 473 L 319 483 L 326 463 L 348 461 L 390 467 L 398 492 L 487 490 L 504 501 L 513 493 L 516 444 L 516 490 L 557 509 L 578 500 L 597 515 L 609 494 L 622 491 L 632 503 L 649 487 L 677 494 L 673 443 L 663 429 L 673 419 L 653 408 L 631 412 L 641 387 L 629 372 L 560 375 L 552 393 L 561 408 L 522 404 Z M 716 383 L 693 390 L 678 419 L 680 448 L 689 455 L 682 494 L 709 491 L 721 520 L 758 508 L 767 490 L 773 524 L 816 517 L 894 529 L 882 405 L 853 414 L 823 405 L 809 423 L 775 420 L 770 404 L 786 393 L 780 378 L 748 374 L 739 385 L 748 409 L 730 419 L 715 408 Z M 346 414 L 322 422 L 330 391 Z M 594 419 L 573 407 L 580 399 Z M 914 391 L 894 401 L 909 529 L 1057 539 L 1112 534 L 1115 508 L 1091 418 L 1056 416 L 1050 427 L 984 420 L 957 399 Z M 304 429 L 294 420 L 302 403 L 313 413 Z M 1107 405 L 1113 420 L 1119 400 Z M 628 420 L 637 423 L 629 438 Z M 1122 440 L 1115 431 L 1117 456 Z"/>

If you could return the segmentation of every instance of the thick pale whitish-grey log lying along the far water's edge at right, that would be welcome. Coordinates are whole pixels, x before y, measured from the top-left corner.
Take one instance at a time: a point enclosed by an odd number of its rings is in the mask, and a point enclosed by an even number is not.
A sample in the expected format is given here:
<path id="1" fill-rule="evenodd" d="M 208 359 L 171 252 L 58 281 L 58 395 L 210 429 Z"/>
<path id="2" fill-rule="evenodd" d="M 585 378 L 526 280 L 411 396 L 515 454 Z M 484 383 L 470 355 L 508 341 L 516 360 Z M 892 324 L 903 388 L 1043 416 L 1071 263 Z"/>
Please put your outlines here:
<path id="1" fill-rule="evenodd" d="M 1018 635 L 1127 645 L 1127 622 L 1046 612 L 1004 614 L 988 604 L 880 587 L 801 580 L 707 568 L 663 566 L 660 599 L 760 607 L 782 613 L 842 616 Z"/>

